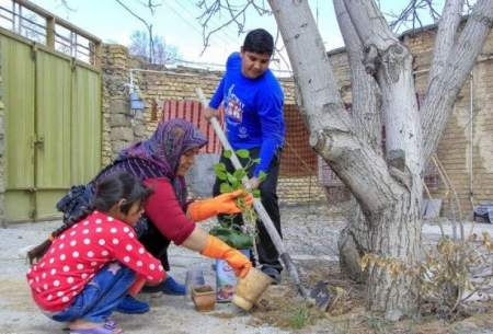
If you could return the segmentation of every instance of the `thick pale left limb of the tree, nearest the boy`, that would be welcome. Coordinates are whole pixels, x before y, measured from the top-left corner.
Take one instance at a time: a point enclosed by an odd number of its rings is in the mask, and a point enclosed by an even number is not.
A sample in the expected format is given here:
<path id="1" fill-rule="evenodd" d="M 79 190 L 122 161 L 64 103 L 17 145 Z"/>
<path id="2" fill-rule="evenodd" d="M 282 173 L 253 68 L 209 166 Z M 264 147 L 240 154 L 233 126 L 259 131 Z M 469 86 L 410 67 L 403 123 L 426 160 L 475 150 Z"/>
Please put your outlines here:
<path id="1" fill-rule="evenodd" d="M 298 104 L 311 133 L 310 145 L 330 162 L 365 210 L 383 209 L 401 188 L 387 172 L 385 160 L 355 130 L 343 106 L 312 13 L 305 2 L 295 4 L 289 1 L 285 5 L 280 0 L 270 0 L 270 3 L 289 58 L 295 60 L 291 66 L 296 87 L 300 90 Z M 295 11 L 299 15 L 294 15 Z M 307 49 L 311 51 L 307 53 Z M 364 166 L 343 161 L 357 161 Z M 358 176 L 352 177 L 355 174 Z M 381 183 L 372 183 L 368 174 L 378 175 Z"/>

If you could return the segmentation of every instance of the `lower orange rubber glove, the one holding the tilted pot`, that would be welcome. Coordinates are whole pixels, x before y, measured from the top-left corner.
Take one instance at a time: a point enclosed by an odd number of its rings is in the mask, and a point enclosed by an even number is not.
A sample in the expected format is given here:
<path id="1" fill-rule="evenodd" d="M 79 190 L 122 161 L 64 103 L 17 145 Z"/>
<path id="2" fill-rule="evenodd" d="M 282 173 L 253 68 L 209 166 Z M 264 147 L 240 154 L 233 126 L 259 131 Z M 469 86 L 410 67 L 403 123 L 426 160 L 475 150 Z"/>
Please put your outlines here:
<path id="1" fill-rule="evenodd" d="M 226 242 L 214 235 L 207 237 L 206 246 L 200 254 L 207 257 L 225 260 L 233 268 L 234 275 L 238 277 L 246 276 L 252 267 L 252 263 L 240 251 L 230 247 Z"/>

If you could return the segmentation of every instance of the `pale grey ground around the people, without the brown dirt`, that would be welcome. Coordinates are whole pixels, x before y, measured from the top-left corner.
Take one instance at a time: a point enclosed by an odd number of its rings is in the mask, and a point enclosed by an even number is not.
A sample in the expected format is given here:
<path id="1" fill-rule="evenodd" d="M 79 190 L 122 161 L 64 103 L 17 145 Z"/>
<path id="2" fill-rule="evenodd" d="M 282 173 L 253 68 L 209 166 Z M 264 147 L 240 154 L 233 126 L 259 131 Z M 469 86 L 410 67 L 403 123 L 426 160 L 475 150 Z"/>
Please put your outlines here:
<path id="1" fill-rule="evenodd" d="M 312 260 L 333 261 L 337 257 L 336 238 L 344 227 L 343 216 L 336 209 L 326 207 L 285 207 L 282 208 L 283 233 L 286 247 L 296 262 Z M 0 334 L 41 334 L 68 333 L 59 323 L 43 315 L 31 300 L 25 272 L 27 263 L 21 256 L 22 249 L 36 244 L 59 226 L 59 221 L 13 224 L 0 229 Z M 207 228 L 214 220 L 204 223 Z M 493 235 L 492 226 L 488 228 Z M 436 238 L 436 226 L 424 228 L 429 239 Z M 172 275 L 184 281 L 188 268 L 202 268 L 206 280 L 214 286 L 213 262 L 183 247 L 171 246 Z M 303 273 L 300 273 L 303 275 Z M 288 278 L 284 277 L 284 281 Z M 193 304 L 183 297 L 163 295 L 140 295 L 151 304 L 151 311 L 142 315 L 116 313 L 114 319 L 129 334 L 284 334 L 318 333 L 336 334 L 325 323 L 323 326 L 310 326 L 301 331 L 284 331 L 266 324 L 252 322 L 252 316 L 239 311 L 231 304 L 217 304 L 210 313 L 198 313 Z M 462 334 L 469 334 L 466 330 Z M 472 333 L 472 332 L 471 332 Z M 493 334 L 493 330 L 479 329 L 474 333 Z"/>

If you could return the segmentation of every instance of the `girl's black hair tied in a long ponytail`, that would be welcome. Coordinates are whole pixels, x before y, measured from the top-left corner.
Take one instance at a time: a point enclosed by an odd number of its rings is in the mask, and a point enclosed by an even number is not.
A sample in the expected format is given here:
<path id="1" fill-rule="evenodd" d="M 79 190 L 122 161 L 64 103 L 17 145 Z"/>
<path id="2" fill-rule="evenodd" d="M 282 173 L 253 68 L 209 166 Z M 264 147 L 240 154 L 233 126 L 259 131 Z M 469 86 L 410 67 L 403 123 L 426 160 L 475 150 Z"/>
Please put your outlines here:
<path id="1" fill-rule="evenodd" d="M 51 232 L 49 239 L 27 252 L 30 263 L 38 261 L 48 251 L 53 239 L 60 235 L 76 222 L 84 219 L 92 211 L 107 212 L 115 204 L 124 199 L 119 209 L 127 215 L 134 204 L 139 204 L 142 207 L 150 194 L 152 194 L 152 189 L 142 185 L 139 178 L 127 172 L 116 172 L 104 176 L 95 185 L 92 205 L 84 211 L 84 215 L 77 220 L 66 221 L 60 228 Z"/>

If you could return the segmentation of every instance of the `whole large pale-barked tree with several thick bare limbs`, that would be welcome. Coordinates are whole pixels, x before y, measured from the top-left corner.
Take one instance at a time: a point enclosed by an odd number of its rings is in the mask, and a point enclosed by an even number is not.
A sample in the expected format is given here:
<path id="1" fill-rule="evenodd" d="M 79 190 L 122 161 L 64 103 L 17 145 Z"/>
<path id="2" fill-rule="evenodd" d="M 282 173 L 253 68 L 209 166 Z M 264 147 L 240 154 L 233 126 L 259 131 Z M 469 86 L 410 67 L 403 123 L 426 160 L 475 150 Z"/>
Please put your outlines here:
<path id="1" fill-rule="evenodd" d="M 209 2 L 217 9 L 229 8 L 228 1 Z M 256 2 L 261 5 L 264 1 Z M 468 1 L 445 1 L 419 113 L 413 56 L 391 31 L 377 3 L 333 0 L 351 67 L 352 115 L 344 108 L 308 1 L 267 2 L 293 66 L 310 145 L 362 209 L 364 219 L 346 229 L 341 256 L 354 267 L 365 253 L 395 263 L 400 270 L 369 265 L 368 308 L 383 311 L 390 320 L 415 314 L 419 274 L 408 269 L 420 265 L 423 169 L 492 28 L 493 1 L 478 0 L 460 33 L 460 14 Z M 241 12 L 238 5 L 234 10 Z M 382 124 L 385 149 L 379 135 Z"/>

